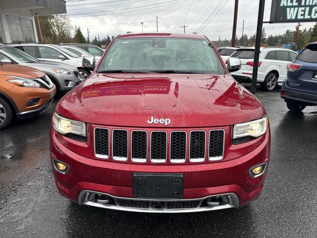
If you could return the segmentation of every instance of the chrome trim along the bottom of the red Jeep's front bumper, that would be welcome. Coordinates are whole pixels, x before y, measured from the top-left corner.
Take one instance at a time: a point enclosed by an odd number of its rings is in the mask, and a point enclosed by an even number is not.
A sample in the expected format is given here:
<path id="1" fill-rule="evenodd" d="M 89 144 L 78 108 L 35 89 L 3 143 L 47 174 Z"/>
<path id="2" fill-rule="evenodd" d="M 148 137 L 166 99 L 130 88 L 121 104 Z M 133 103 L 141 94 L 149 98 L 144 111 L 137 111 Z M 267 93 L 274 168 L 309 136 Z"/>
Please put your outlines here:
<path id="1" fill-rule="evenodd" d="M 91 196 L 94 196 L 94 194 L 102 194 L 107 196 L 111 199 L 112 202 L 110 204 L 105 203 L 99 203 L 97 199 L 92 199 Z M 226 203 L 219 203 L 218 205 L 209 205 L 213 203 L 208 203 L 210 198 L 215 197 L 225 197 L 227 202 Z M 124 203 L 124 205 L 120 205 L 120 203 Z M 132 203 L 142 203 L 142 207 L 140 207 L 138 204 L 136 206 L 129 206 Z M 164 203 L 164 208 L 154 208 L 152 204 L 154 202 L 162 202 Z M 190 207 L 190 208 L 181 208 L 181 204 L 183 203 L 191 203 L 196 202 L 196 207 Z M 97 192 L 97 191 L 91 191 L 91 190 L 82 190 L 78 196 L 78 203 L 80 205 L 88 205 L 88 206 L 94 206 L 94 207 L 100 207 L 100 208 L 106 208 L 106 209 L 112 209 L 112 210 L 120 210 L 120 211 L 130 211 L 130 212 L 144 212 L 144 213 L 190 213 L 190 212 L 205 212 L 205 211 L 214 211 L 214 210 L 221 210 L 221 209 L 227 209 L 227 208 L 237 208 L 239 207 L 239 198 L 235 193 L 224 193 L 224 194 L 216 194 L 207 196 L 204 198 L 197 198 L 197 199 L 136 199 L 136 198 L 125 198 L 125 197 L 116 197 L 109 195 L 107 193 L 103 192 Z M 169 206 L 167 204 L 172 203 L 173 206 Z M 128 205 L 127 205 L 128 204 Z M 146 204 L 149 204 L 148 207 Z M 178 205 L 177 205 L 178 204 Z M 195 206 L 195 205 L 194 205 Z M 185 205 L 186 207 L 186 205 Z"/>

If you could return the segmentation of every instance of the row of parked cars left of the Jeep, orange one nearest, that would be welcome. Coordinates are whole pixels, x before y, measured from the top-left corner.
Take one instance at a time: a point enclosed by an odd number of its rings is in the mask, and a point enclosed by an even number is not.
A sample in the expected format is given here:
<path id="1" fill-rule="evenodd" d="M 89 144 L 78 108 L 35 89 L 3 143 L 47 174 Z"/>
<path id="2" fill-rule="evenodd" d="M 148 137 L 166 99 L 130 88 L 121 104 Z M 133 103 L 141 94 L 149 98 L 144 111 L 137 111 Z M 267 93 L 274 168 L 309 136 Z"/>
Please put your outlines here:
<path id="1" fill-rule="evenodd" d="M 56 91 L 67 92 L 86 80 L 101 58 L 97 49 L 94 56 L 72 44 L 0 44 L 0 129 L 15 116 L 45 111 Z"/>

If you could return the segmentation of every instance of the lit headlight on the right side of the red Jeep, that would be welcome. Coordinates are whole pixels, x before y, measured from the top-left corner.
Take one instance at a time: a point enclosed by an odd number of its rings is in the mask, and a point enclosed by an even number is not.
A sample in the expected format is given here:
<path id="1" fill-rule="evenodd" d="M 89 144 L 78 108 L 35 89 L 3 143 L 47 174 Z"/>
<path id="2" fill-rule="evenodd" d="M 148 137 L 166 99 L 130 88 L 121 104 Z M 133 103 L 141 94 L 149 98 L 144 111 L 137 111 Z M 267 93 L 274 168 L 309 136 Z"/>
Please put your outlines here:
<path id="1" fill-rule="evenodd" d="M 236 124 L 233 127 L 233 139 L 252 136 L 259 137 L 264 135 L 268 127 L 268 119 L 264 116 L 261 119 Z"/>

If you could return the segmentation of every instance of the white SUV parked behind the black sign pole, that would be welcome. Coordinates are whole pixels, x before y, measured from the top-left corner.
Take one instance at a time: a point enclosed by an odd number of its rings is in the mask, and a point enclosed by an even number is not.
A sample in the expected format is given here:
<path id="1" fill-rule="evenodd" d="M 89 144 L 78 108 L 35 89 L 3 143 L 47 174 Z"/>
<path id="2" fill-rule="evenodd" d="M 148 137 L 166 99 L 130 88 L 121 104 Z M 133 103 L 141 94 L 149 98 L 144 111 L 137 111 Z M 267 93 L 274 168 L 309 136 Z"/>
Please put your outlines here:
<path id="1" fill-rule="evenodd" d="M 255 48 L 237 49 L 230 57 L 241 60 L 241 69 L 231 73 L 238 82 L 251 82 Z M 287 76 L 286 65 L 295 60 L 297 53 L 277 47 L 261 48 L 257 83 L 264 91 L 272 91 Z"/>

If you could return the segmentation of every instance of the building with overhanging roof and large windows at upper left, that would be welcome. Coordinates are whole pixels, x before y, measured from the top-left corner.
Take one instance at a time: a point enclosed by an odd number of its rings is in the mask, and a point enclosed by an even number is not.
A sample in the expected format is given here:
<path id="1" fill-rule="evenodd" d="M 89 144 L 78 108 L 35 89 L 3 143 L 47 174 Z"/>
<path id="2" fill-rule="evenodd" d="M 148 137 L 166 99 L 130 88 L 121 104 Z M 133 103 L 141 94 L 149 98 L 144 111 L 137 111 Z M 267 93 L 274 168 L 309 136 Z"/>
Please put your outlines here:
<path id="1" fill-rule="evenodd" d="M 0 0 L 0 43 L 39 42 L 37 16 L 61 13 L 64 0 Z"/>

